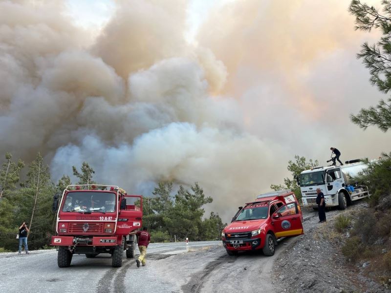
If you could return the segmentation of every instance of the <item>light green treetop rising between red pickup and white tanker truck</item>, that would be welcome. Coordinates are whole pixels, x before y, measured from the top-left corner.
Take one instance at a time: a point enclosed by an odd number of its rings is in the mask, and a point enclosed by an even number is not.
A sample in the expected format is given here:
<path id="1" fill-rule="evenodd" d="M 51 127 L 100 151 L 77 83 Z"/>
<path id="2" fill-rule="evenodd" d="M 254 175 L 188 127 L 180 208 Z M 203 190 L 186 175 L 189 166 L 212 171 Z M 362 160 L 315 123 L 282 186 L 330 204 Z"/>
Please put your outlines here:
<path id="1" fill-rule="evenodd" d="M 318 167 L 319 162 L 318 160 L 313 161 L 312 159 L 306 160 L 305 157 L 300 157 L 298 155 L 295 155 L 294 161 L 289 160 L 288 161 L 288 171 L 292 173 L 292 179 L 286 177 L 284 178 L 284 183 L 275 185 L 272 184 L 270 186 L 273 190 L 282 190 L 282 189 L 291 189 L 293 192 L 295 192 L 295 195 L 298 199 L 302 198 L 302 192 L 300 191 L 300 186 L 297 184 L 296 178 L 299 177 L 300 173 L 304 170 L 308 170 L 314 167 Z"/>

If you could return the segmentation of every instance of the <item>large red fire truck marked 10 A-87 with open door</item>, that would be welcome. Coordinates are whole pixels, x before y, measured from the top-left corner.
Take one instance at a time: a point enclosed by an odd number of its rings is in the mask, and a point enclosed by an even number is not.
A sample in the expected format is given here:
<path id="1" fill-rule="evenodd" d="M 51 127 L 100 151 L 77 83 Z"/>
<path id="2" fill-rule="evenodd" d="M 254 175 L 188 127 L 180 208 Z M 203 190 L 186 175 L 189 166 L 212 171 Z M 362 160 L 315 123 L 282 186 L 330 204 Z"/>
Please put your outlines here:
<path id="1" fill-rule="evenodd" d="M 58 247 L 57 264 L 69 267 L 73 254 L 92 258 L 112 255 L 112 266 L 122 266 L 122 255 L 134 256 L 136 237 L 129 235 L 142 227 L 143 198 L 128 195 L 118 186 L 68 185 L 56 193 L 56 236 L 50 245 Z"/>

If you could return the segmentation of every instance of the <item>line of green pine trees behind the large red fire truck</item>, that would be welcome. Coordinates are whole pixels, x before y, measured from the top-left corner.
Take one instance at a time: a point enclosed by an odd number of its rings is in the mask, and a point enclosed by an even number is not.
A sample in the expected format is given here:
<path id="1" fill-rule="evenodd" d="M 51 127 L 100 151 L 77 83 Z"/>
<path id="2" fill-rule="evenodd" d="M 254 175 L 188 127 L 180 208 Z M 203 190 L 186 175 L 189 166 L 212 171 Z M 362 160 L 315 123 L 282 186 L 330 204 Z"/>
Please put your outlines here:
<path id="1" fill-rule="evenodd" d="M 83 162 L 80 171 L 72 167 L 74 184 L 97 184 L 95 173 L 88 163 Z M 21 179 L 20 174 L 25 174 Z M 51 236 L 55 233 L 55 213 L 52 212 L 53 195 L 63 192 L 71 184 L 64 175 L 57 184 L 51 179 L 50 169 L 37 154 L 28 166 L 10 153 L 0 168 L 0 252 L 16 251 L 19 242 L 16 235 L 22 222 L 26 222 L 30 233 L 30 250 L 50 249 Z M 213 199 L 205 196 L 195 183 L 190 189 L 172 182 L 159 183 L 152 194 L 144 195 L 144 226 L 150 228 L 152 242 L 176 240 L 216 240 L 225 226 L 217 213 L 204 217 L 203 207 Z"/>

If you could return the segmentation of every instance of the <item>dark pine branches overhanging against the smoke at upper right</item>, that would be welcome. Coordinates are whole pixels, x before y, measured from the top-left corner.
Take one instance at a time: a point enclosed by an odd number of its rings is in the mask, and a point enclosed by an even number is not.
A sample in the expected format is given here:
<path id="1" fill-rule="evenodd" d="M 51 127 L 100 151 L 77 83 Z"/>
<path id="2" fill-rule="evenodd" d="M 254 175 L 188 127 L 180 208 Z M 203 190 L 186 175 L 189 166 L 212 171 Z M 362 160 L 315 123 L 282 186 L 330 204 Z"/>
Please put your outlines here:
<path id="1" fill-rule="evenodd" d="M 382 32 L 379 42 L 371 45 L 365 42 L 361 46 L 357 58 L 362 59 L 369 68 L 370 83 L 376 85 L 381 92 L 388 93 L 391 89 L 391 1 L 383 0 L 381 3 L 383 8 L 379 12 L 360 0 L 352 0 L 348 10 L 356 17 L 356 30 L 370 32 L 375 28 Z M 391 98 L 387 102 L 380 100 L 375 107 L 362 108 L 359 114 L 350 115 L 350 119 L 363 129 L 377 126 L 386 132 L 391 127 Z"/>

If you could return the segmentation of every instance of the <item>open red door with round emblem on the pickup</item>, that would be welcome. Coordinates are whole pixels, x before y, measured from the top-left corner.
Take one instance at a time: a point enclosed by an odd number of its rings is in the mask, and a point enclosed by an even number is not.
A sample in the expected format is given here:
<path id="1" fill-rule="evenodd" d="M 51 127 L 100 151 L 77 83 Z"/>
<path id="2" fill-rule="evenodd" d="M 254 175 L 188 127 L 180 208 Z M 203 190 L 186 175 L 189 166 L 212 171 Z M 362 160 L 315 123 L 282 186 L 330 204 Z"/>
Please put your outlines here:
<path id="1" fill-rule="evenodd" d="M 272 225 L 276 237 L 304 234 L 302 219 L 297 203 L 290 203 L 276 210 L 272 215 Z"/>

